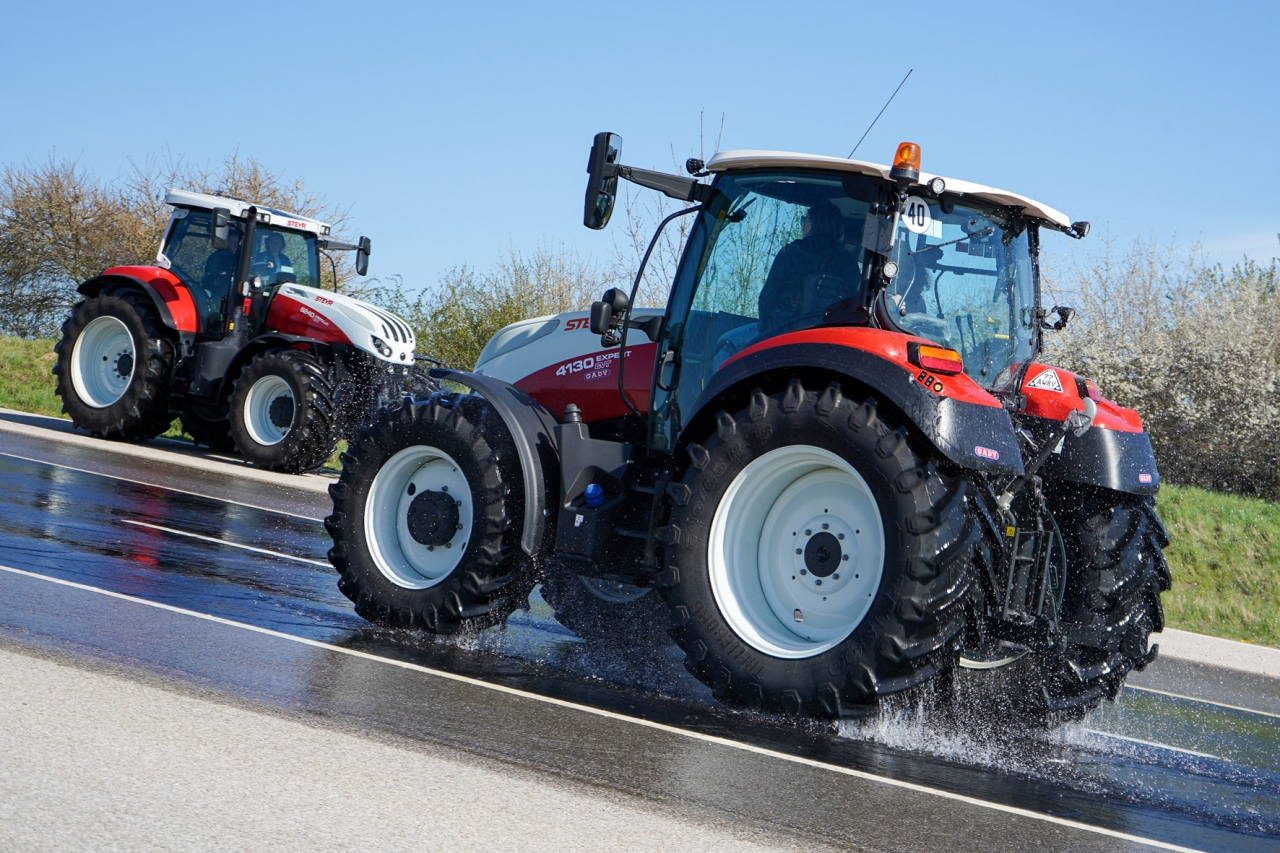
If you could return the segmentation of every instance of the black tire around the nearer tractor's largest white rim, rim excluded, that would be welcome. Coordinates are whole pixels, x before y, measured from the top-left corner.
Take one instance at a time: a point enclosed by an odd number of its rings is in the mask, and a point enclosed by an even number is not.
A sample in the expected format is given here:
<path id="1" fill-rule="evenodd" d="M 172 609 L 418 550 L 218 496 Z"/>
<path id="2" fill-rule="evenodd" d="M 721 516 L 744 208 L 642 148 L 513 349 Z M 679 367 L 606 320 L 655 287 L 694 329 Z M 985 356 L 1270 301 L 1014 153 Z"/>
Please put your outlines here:
<path id="1" fill-rule="evenodd" d="M 797 379 L 772 394 L 756 389 L 717 424 L 687 447 L 689 466 L 668 489 L 671 523 L 658 532 L 666 569 L 655 585 L 672 610 L 686 667 L 722 701 L 815 716 L 867 713 L 879 697 L 950 667 L 978 542 L 968 483 L 918 455 L 908 429 L 882 416 L 874 398 L 855 403 L 837 383 L 822 393 Z M 742 643 L 721 616 L 708 574 L 708 534 L 724 491 L 751 460 L 787 444 L 823 447 L 852 464 L 886 526 L 884 573 L 870 611 L 842 643 L 803 660 Z"/>

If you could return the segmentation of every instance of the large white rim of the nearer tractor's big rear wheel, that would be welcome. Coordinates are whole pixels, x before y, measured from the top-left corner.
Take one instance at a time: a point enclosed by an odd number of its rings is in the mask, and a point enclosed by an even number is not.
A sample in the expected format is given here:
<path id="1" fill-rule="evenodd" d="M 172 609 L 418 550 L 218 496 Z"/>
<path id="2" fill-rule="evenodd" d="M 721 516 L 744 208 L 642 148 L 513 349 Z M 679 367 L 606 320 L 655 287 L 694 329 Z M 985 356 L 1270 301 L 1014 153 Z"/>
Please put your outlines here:
<path id="1" fill-rule="evenodd" d="M 813 657 L 844 642 L 870 610 L 884 573 L 884 525 L 867 480 L 845 459 L 809 444 L 780 447 L 724 492 L 708 565 L 716 603 L 742 642 L 771 657 Z"/>

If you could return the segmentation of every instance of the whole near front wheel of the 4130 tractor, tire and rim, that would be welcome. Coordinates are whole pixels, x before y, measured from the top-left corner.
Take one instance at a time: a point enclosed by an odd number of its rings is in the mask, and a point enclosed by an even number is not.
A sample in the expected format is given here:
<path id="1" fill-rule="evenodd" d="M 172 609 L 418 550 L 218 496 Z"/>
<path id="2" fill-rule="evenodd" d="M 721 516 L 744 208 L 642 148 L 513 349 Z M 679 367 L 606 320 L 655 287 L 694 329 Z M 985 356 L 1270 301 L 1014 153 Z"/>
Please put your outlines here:
<path id="1" fill-rule="evenodd" d="M 338 588 L 362 617 L 452 634 L 524 605 L 515 446 L 476 397 L 381 410 L 343 453 L 325 519 Z"/>

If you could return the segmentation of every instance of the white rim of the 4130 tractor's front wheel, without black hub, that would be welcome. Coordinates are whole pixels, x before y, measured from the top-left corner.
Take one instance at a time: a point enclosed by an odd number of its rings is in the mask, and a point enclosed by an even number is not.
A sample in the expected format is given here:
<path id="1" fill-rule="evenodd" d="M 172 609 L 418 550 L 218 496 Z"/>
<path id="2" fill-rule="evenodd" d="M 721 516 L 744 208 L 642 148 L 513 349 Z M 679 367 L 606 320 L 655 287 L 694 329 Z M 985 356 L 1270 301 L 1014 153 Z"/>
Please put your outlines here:
<path id="1" fill-rule="evenodd" d="M 410 533 L 410 506 L 426 491 L 452 496 L 458 510 L 458 530 L 442 546 L 422 544 Z M 434 587 L 462 562 L 471 512 L 471 488 L 453 457 L 434 447 L 406 447 L 387 460 L 369 489 L 365 539 L 374 565 L 397 587 Z"/>

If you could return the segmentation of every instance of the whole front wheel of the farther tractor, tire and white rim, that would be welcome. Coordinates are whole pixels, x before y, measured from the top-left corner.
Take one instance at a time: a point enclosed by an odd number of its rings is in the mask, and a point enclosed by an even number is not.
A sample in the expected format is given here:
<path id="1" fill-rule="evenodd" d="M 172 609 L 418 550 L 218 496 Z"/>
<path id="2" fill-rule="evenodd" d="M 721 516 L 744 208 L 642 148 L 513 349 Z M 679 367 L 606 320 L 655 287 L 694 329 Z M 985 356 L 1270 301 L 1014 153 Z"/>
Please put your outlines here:
<path id="1" fill-rule="evenodd" d="M 230 400 L 230 437 L 239 455 L 288 474 L 324 465 L 338 439 L 335 373 L 302 350 L 250 361 Z"/>

